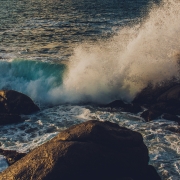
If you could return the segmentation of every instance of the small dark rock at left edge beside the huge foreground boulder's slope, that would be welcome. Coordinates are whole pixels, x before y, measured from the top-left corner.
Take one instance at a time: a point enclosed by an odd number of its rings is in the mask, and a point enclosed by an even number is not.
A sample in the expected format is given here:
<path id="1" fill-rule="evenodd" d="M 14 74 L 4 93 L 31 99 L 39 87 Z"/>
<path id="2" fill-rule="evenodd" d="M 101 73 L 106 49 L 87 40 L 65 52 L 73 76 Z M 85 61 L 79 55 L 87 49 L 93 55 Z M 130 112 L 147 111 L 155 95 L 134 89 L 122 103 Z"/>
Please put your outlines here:
<path id="1" fill-rule="evenodd" d="M 3 149 L 0 149 L 0 154 L 6 157 L 6 160 L 9 165 L 14 164 L 16 161 L 18 161 L 26 155 L 26 153 L 18 153 L 17 151 Z"/>

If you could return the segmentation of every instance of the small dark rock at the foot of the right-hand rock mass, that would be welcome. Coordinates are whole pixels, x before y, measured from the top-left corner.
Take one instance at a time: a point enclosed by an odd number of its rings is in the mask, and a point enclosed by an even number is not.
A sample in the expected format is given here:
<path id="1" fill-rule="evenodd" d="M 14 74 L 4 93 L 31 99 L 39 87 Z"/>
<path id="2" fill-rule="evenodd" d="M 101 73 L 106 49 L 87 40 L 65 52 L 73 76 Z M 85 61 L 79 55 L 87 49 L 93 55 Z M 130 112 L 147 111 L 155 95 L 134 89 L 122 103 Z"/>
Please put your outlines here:
<path id="1" fill-rule="evenodd" d="M 158 118 L 162 113 L 156 110 L 146 110 L 141 114 L 141 117 L 145 119 L 145 121 L 149 122 L 156 118 Z"/>

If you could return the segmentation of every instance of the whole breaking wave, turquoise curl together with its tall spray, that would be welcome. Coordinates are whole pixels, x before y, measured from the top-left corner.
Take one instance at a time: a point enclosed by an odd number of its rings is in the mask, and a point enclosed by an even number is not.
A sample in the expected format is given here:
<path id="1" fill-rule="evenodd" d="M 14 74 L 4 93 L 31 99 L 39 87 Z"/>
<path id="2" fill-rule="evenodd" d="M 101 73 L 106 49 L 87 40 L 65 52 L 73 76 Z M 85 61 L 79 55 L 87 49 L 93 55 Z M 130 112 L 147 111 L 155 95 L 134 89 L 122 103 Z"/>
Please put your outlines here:
<path id="1" fill-rule="evenodd" d="M 69 61 L 0 62 L 0 88 L 14 89 L 42 104 L 130 102 L 152 84 L 179 80 L 180 2 L 152 5 L 142 20 L 107 40 L 84 42 Z"/>

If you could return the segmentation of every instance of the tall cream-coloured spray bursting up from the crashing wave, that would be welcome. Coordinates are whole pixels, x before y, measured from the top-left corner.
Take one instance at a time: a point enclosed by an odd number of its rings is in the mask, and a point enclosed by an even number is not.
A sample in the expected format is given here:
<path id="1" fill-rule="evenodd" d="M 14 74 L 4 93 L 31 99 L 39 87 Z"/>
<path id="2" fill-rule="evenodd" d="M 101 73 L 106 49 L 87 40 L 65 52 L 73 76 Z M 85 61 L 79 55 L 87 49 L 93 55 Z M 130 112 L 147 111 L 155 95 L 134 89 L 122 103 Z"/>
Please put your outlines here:
<path id="1" fill-rule="evenodd" d="M 179 79 L 179 9 L 179 1 L 165 0 L 152 6 L 140 24 L 77 47 L 64 79 L 69 101 L 131 101 L 149 82 Z"/>

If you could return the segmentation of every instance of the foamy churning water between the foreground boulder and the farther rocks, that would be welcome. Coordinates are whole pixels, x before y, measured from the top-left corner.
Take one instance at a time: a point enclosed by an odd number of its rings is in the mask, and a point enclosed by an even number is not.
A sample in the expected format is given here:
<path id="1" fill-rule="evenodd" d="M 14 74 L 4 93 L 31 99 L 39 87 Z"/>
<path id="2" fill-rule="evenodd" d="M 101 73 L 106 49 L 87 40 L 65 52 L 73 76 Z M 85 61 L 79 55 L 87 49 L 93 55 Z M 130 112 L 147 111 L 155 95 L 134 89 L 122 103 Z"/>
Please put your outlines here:
<path id="1" fill-rule="evenodd" d="M 27 152 L 74 124 L 90 119 L 110 121 L 143 135 L 149 149 L 150 164 L 156 167 L 162 180 L 176 180 L 180 176 L 180 136 L 167 129 L 178 128 L 176 122 L 157 119 L 147 123 L 130 113 L 70 105 L 48 108 L 23 118 L 26 119 L 24 123 L 0 127 L 0 148 Z"/>

